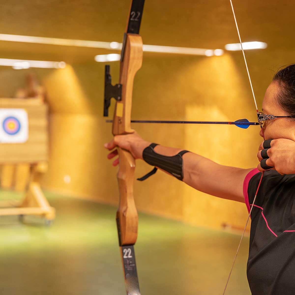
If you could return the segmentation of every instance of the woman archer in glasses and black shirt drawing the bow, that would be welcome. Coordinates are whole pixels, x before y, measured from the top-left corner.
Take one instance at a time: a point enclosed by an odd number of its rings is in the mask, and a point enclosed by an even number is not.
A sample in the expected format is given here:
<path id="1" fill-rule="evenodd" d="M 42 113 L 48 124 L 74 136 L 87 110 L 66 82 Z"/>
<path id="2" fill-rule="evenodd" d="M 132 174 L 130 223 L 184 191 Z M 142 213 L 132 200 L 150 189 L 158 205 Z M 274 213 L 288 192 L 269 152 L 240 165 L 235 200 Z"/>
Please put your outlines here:
<path id="1" fill-rule="evenodd" d="M 257 168 L 219 165 L 192 152 L 152 144 L 137 133 L 117 135 L 105 148 L 126 149 L 135 159 L 143 159 L 199 191 L 244 202 L 248 211 L 261 172 L 270 169 L 264 173 L 251 213 L 247 277 L 253 295 L 294 295 L 295 64 L 275 74 L 262 110 L 258 120 L 266 141 L 259 146 Z M 108 158 L 116 155 L 113 150 Z M 113 165 L 118 164 L 117 158 Z"/>

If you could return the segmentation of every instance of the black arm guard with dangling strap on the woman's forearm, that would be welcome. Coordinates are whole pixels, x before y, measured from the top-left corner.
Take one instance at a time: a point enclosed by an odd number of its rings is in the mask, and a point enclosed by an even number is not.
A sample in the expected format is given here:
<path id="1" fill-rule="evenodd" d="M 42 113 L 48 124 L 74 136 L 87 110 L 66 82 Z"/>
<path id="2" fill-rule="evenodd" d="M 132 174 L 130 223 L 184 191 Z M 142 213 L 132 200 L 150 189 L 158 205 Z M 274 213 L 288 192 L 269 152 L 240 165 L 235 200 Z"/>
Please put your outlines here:
<path id="1" fill-rule="evenodd" d="M 168 157 L 168 156 L 163 156 L 160 154 L 155 153 L 154 148 L 155 146 L 158 145 L 156 143 L 150 144 L 147 148 L 143 150 L 142 153 L 142 158 L 145 160 L 150 165 L 156 166 L 160 169 L 163 169 L 167 171 L 168 173 L 172 174 L 175 176 L 177 179 L 181 180 L 183 179 L 183 171 L 182 171 L 182 166 L 183 166 L 183 160 L 182 160 L 182 155 L 185 153 L 188 153 L 188 150 L 182 150 L 179 152 L 177 155 Z M 141 178 L 137 178 L 139 181 L 143 181 L 150 177 L 151 175 L 155 174 L 157 172 L 157 168 L 154 168 L 152 171 L 150 171 L 148 174 Z"/>

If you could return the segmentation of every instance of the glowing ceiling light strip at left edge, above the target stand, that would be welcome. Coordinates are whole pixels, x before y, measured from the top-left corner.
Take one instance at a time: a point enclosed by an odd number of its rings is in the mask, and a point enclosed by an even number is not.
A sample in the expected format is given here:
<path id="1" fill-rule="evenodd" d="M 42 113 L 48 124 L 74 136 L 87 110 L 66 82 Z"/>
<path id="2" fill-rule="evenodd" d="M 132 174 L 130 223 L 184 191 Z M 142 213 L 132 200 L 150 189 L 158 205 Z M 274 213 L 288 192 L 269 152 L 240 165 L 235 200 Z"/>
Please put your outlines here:
<path id="1" fill-rule="evenodd" d="M 65 68 L 63 61 L 45 61 L 45 60 L 23 60 L 23 59 L 9 59 L 0 58 L 0 65 L 13 67 L 16 70 L 28 68 Z"/>

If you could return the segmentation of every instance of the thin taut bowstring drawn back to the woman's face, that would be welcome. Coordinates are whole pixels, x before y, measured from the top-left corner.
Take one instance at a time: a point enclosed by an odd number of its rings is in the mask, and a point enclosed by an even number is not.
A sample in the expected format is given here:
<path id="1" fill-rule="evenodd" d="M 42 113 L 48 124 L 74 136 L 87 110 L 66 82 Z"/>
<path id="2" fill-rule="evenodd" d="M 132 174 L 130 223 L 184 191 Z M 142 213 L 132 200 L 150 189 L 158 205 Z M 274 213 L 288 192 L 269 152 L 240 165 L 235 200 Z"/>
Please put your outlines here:
<path id="1" fill-rule="evenodd" d="M 238 36 L 239 36 L 240 45 L 241 45 L 241 49 L 242 49 L 242 53 L 243 53 L 243 57 L 244 57 L 244 61 L 245 61 L 245 66 L 246 66 L 246 70 L 247 70 L 247 74 L 248 74 L 248 78 L 249 78 L 249 83 L 250 83 L 251 90 L 252 90 L 252 94 L 253 94 L 253 99 L 254 99 L 254 103 L 255 103 L 255 107 L 256 107 L 256 112 L 258 113 L 258 107 L 257 107 L 256 99 L 255 99 L 255 94 L 254 94 L 254 90 L 253 90 L 253 86 L 252 86 L 252 81 L 251 81 L 251 78 L 250 78 L 250 73 L 249 73 L 249 69 L 248 69 L 247 60 L 246 60 L 246 57 L 245 57 L 244 48 L 243 48 L 243 45 L 242 45 L 242 40 L 241 40 L 241 36 L 240 36 L 239 27 L 238 27 L 238 24 L 237 24 L 237 19 L 236 19 L 236 15 L 235 15 L 234 6 L 232 5 L 232 0 L 230 0 L 230 6 L 232 7 L 232 14 L 233 14 L 234 19 L 235 19 L 235 24 L 236 24 L 236 28 L 237 28 L 237 33 L 238 33 Z M 263 140 L 265 140 L 265 138 L 264 138 L 264 133 L 263 133 L 263 129 L 262 129 L 262 125 L 260 125 L 260 127 L 261 127 L 261 131 L 262 131 L 262 135 L 263 135 Z M 230 273 L 229 273 L 229 275 L 228 275 L 227 282 L 226 282 L 226 284 L 225 284 L 224 291 L 223 291 L 222 295 L 225 294 L 225 291 L 226 291 L 226 288 L 227 288 L 228 282 L 229 282 L 229 280 L 230 280 L 230 276 L 231 276 L 231 274 L 232 274 L 232 270 L 233 270 L 233 268 L 234 268 L 234 265 L 235 265 L 235 262 L 236 262 L 236 259 L 237 259 L 237 255 L 238 255 L 238 252 L 239 252 L 239 250 L 240 250 L 240 246 L 241 246 L 241 243 L 242 243 L 242 240 L 243 240 L 243 237 L 244 237 L 245 231 L 246 231 L 246 227 L 247 227 L 247 225 L 248 225 L 248 221 L 249 221 L 249 219 L 250 219 L 251 212 L 252 212 L 252 209 L 253 209 L 253 206 L 254 206 L 254 203 L 255 203 L 255 200 L 256 200 L 257 194 L 258 194 L 258 190 L 259 190 L 259 188 L 260 188 L 260 184 L 261 184 L 261 181 L 262 181 L 263 174 L 264 174 L 264 171 L 262 172 L 262 175 L 261 175 L 261 178 L 260 178 L 260 181 L 259 181 L 259 184 L 258 184 L 258 187 L 257 187 L 256 193 L 255 193 L 255 196 L 254 196 L 254 199 L 253 199 L 253 203 L 252 203 L 252 206 L 251 206 L 251 209 L 250 209 L 250 212 L 249 212 L 248 218 L 247 218 L 247 222 L 246 222 L 246 224 L 245 224 L 245 227 L 244 227 L 244 230 L 243 230 L 243 233 L 242 233 L 242 237 L 241 237 L 241 240 L 240 240 L 240 242 L 239 242 L 239 245 L 238 245 L 238 248 L 237 248 L 237 252 L 236 252 L 236 255 L 235 255 L 234 261 L 233 261 L 233 263 L 232 263 L 232 268 L 231 268 Z"/>

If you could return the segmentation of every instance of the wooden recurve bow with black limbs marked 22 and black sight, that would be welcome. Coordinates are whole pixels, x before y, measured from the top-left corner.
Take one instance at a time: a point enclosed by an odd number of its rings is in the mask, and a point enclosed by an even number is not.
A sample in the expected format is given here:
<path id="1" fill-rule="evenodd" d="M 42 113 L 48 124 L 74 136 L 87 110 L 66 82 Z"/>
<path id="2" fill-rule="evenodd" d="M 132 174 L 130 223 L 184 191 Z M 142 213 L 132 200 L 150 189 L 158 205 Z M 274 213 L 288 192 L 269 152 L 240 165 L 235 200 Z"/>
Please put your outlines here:
<path id="1" fill-rule="evenodd" d="M 108 116 L 110 99 L 116 99 L 113 135 L 130 134 L 132 90 L 135 74 L 142 65 L 142 38 L 139 35 L 144 0 L 132 0 L 121 52 L 119 83 L 112 86 L 109 65 L 105 68 L 104 116 Z M 117 229 L 128 295 L 140 295 L 133 245 L 137 239 L 138 215 L 133 196 L 135 159 L 127 150 L 117 148 L 119 154 L 119 208 Z"/>

